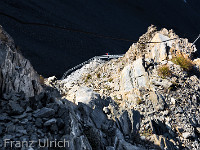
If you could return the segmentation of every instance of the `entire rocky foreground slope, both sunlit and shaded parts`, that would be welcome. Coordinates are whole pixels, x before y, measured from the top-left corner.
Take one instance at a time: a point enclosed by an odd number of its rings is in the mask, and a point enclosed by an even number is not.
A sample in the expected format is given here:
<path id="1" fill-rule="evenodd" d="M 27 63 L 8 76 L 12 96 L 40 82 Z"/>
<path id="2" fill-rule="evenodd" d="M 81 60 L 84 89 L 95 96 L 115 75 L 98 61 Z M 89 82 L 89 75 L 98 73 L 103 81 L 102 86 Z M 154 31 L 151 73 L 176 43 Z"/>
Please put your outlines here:
<path id="1" fill-rule="evenodd" d="M 64 80 L 43 80 L 0 33 L 0 149 L 200 148 L 200 59 L 173 30 L 150 26 L 124 57 Z"/>

